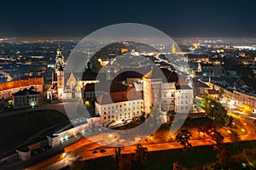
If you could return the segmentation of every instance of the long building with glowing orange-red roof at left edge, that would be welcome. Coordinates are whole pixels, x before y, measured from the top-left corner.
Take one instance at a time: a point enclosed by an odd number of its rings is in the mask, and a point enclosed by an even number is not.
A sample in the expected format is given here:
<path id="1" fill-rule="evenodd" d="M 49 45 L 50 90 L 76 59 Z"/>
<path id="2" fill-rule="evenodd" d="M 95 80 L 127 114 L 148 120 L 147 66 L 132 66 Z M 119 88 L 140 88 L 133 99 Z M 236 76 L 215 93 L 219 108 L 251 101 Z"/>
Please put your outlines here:
<path id="1" fill-rule="evenodd" d="M 43 92 L 43 86 L 44 77 L 0 83 L 0 99 L 12 99 L 13 94 L 30 87 L 34 87 L 41 93 Z"/>

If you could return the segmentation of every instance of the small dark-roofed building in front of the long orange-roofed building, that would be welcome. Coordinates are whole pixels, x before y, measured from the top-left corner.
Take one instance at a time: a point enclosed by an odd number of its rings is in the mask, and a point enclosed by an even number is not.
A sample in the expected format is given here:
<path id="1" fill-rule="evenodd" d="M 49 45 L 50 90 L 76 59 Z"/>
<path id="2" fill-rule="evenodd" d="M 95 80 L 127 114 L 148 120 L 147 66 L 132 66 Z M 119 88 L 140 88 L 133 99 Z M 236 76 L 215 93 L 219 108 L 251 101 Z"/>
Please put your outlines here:
<path id="1" fill-rule="evenodd" d="M 13 94 L 14 109 L 36 107 L 39 105 L 39 92 L 35 88 L 25 88 Z"/>

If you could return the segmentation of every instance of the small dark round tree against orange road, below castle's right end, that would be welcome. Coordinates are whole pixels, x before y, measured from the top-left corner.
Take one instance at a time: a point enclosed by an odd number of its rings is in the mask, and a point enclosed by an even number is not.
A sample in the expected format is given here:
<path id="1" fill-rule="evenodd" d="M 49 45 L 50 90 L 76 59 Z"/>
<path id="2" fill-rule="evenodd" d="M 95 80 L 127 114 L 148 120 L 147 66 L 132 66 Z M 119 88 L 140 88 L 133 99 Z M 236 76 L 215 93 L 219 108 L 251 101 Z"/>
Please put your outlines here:
<path id="1" fill-rule="evenodd" d="M 181 144 L 184 150 L 189 150 L 192 147 L 192 144 L 189 143 L 189 139 L 192 137 L 192 134 L 187 129 L 182 129 L 180 133 L 177 133 L 175 140 Z"/>

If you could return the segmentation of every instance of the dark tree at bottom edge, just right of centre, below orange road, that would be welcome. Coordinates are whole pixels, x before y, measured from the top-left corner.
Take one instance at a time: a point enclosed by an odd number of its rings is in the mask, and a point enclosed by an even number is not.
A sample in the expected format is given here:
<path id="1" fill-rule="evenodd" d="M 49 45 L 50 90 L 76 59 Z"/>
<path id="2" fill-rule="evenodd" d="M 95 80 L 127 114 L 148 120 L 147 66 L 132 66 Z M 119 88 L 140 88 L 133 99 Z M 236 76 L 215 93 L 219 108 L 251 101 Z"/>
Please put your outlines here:
<path id="1" fill-rule="evenodd" d="M 137 144 L 135 153 L 132 159 L 132 169 L 144 169 L 148 161 L 148 148 L 143 147 L 142 144 Z"/>

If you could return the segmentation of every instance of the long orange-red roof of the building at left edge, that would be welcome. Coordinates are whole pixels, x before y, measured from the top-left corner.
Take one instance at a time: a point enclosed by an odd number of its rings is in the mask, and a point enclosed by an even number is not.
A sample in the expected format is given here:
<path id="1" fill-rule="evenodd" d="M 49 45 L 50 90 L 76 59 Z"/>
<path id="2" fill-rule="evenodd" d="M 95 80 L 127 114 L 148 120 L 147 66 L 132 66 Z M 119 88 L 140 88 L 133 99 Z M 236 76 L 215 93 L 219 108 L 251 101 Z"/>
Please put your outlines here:
<path id="1" fill-rule="evenodd" d="M 20 88 L 23 86 L 43 85 L 43 84 L 44 84 L 44 77 L 29 78 L 26 80 L 0 83 L 0 90 L 7 90 L 7 89 L 11 89 L 11 88 Z"/>

